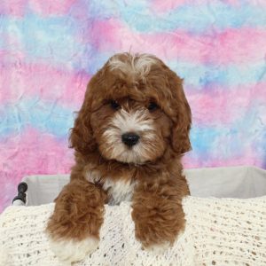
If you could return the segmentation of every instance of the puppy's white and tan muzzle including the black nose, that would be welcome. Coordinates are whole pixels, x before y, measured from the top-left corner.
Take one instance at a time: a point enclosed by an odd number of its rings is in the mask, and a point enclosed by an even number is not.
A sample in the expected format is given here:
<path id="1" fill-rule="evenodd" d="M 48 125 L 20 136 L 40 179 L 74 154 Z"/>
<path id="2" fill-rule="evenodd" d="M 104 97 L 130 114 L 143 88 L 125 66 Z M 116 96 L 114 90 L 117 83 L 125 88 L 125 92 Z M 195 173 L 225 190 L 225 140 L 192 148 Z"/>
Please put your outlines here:
<path id="1" fill-rule="evenodd" d="M 133 114 L 122 117 L 120 121 L 118 113 L 106 127 L 99 142 L 99 150 L 106 159 L 144 165 L 156 160 L 162 153 L 163 147 L 153 121 L 135 121 L 138 116 L 136 118 Z"/>

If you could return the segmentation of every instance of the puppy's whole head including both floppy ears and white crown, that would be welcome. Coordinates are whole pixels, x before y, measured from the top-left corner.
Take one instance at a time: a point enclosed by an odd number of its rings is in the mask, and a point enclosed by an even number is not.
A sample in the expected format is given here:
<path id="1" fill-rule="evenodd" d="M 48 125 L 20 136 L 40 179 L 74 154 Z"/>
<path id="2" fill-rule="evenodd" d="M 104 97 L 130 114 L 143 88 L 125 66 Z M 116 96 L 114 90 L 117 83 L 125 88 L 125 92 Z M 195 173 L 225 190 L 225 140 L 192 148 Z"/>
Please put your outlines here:
<path id="1" fill-rule="evenodd" d="M 122 53 L 91 78 L 70 141 L 83 155 L 145 164 L 188 151 L 190 127 L 182 80 L 154 56 Z"/>

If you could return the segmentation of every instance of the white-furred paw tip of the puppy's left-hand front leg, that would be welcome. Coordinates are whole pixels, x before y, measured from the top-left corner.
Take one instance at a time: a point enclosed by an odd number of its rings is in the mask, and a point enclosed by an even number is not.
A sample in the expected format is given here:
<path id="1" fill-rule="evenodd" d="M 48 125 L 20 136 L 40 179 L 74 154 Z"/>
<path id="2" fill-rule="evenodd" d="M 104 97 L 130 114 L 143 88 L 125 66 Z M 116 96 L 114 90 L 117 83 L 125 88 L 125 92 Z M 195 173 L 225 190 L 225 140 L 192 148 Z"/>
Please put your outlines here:
<path id="1" fill-rule="evenodd" d="M 77 262 L 81 261 L 87 254 L 91 254 L 98 248 L 99 240 L 90 237 L 83 240 L 74 239 L 49 239 L 51 250 L 60 261 Z"/>

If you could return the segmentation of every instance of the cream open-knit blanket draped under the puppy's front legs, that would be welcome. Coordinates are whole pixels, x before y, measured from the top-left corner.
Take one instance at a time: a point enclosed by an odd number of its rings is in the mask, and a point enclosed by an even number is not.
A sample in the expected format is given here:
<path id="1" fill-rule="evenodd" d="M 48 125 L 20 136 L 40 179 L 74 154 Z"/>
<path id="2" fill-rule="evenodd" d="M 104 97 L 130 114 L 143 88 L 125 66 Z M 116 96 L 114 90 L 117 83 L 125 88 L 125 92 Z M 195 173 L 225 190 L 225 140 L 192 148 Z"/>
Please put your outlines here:
<path id="1" fill-rule="evenodd" d="M 266 197 L 184 199 L 186 229 L 165 254 L 142 251 L 128 202 L 106 206 L 98 250 L 77 265 L 266 265 Z M 0 216 L 0 265 L 63 265 L 43 233 L 54 205 L 8 207 Z"/>

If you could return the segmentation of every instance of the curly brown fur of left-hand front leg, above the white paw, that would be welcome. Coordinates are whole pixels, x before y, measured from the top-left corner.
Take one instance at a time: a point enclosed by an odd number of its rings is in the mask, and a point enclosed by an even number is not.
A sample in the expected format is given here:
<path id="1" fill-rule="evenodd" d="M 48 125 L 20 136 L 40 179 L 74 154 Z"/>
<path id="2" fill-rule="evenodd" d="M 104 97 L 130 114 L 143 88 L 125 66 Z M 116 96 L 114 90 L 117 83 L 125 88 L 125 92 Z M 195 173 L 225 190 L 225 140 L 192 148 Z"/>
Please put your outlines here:
<path id="1" fill-rule="evenodd" d="M 99 238 L 99 229 L 104 222 L 106 195 L 94 184 L 74 180 L 60 192 L 47 230 L 57 238 Z"/>

